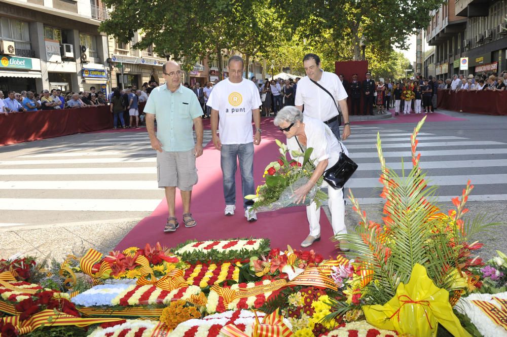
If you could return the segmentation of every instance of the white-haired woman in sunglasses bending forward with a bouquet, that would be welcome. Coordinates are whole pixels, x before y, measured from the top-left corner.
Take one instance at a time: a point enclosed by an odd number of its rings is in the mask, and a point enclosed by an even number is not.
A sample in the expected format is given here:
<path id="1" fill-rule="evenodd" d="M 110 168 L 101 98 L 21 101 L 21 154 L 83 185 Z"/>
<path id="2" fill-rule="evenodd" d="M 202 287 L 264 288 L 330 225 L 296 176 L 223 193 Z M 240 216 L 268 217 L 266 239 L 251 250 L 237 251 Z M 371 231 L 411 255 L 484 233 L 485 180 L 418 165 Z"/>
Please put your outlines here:
<path id="1" fill-rule="evenodd" d="M 285 106 L 278 111 L 274 124 L 280 128 L 287 137 L 287 148 L 289 154 L 293 155 L 293 151 L 302 152 L 312 147 L 313 152 L 310 156 L 314 160 L 315 170 L 308 183 L 295 192 L 295 200 L 297 203 L 304 202 L 308 192 L 315 186 L 317 180 L 324 174 L 324 171 L 336 164 L 340 158 L 341 147 L 338 139 L 329 128 L 320 120 L 304 117 L 303 113 L 294 106 Z M 345 149 L 346 151 L 346 149 Z M 293 158 L 300 162 L 303 158 Z M 324 182 L 324 186 L 327 183 Z M 331 226 L 333 233 L 345 234 L 345 205 L 343 202 L 342 189 L 335 190 L 328 185 L 329 209 L 331 211 Z M 306 215 L 310 224 L 310 234 L 301 243 L 302 247 L 308 247 L 315 241 L 320 240 L 320 207 L 317 208 L 315 203 L 311 203 L 306 207 Z M 340 240 L 340 245 L 346 244 L 345 240 Z M 348 249 L 341 248 L 342 251 Z"/>

